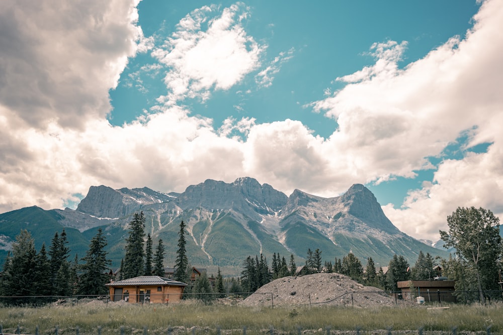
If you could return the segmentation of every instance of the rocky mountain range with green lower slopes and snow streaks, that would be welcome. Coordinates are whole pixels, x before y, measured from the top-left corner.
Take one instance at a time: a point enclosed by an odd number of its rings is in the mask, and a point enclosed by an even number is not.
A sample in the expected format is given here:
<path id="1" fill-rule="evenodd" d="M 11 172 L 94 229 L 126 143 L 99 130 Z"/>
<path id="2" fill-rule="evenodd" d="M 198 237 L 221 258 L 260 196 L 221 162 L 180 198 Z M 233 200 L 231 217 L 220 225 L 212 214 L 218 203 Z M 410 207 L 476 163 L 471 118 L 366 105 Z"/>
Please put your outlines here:
<path id="1" fill-rule="evenodd" d="M 368 257 L 386 266 L 394 254 L 412 265 L 420 251 L 448 257 L 400 232 L 385 216 L 372 192 L 361 184 L 344 194 L 324 198 L 301 190 L 290 196 L 256 179 L 238 178 L 233 183 L 208 179 L 188 186 L 183 193 L 162 193 L 144 188 L 113 189 L 92 186 L 76 209 L 44 210 L 25 207 L 0 214 L 0 258 L 21 229 L 35 238 L 37 249 L 49 246 L 54 233 L 64 228 L 73 253 L 82 257 L 91 238 L 102 228 L 113 265 L 124 256 L 128 222 L 135 212 L 146 217 L 145 234 L 154 246 L 166 248 L 165 266 L 176 258 L 178 230 L 187 223 L 187 252 L 194 266 L 238 274 L 243 260 L 264 254 L 269 260 L 279 253 L 295 256 L 302 265 L 307 249 L 322 251 L 323 261 L 353 252 L 365 266 Z"/>

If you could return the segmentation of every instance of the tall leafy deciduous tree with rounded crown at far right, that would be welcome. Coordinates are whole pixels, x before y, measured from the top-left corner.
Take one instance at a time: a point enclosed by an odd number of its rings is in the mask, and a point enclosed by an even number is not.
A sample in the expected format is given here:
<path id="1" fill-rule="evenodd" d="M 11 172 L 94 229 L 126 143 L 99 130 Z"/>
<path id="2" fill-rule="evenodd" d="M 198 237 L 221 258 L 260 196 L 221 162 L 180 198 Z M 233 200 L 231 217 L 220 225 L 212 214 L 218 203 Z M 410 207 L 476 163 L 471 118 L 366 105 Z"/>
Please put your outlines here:
<path id="1" fill-rule="evenodd" d="M 456 248 L 459 257 L 473 268 L 480 295 L 485 302 L 483 290 L 492 289 L 497 283 L 497 260 L 501 255 L 499 218 L 482 207 L 458 207 L 447 216 L 449 232 L 440 231 L 446 248 Z"/>

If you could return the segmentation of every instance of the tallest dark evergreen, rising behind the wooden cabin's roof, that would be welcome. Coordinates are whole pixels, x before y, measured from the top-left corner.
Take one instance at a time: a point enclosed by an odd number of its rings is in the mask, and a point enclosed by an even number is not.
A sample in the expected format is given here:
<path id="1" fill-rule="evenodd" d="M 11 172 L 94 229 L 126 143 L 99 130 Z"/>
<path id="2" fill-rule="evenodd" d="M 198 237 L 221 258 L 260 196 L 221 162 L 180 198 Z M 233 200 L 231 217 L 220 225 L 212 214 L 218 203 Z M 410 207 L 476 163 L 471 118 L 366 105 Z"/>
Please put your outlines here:
<path id="1" fill-rule="evenodd" d="M 129 222 L 129 236 L 126 238 L 126 255 L 121 275 L 124 279 L 143 275 L 143 238 L 145 237 L 145 215 L 134 213 Z"/>

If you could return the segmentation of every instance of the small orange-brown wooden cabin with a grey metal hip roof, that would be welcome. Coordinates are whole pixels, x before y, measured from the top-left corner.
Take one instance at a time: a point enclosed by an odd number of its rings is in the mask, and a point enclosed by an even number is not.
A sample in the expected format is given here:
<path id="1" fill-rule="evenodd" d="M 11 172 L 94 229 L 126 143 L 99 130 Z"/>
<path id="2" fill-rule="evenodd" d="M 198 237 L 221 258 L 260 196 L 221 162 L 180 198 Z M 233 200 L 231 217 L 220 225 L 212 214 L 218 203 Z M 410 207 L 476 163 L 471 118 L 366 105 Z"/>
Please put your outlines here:
<path id="1" fill-rule="evenodd" d="M 112 301 L 172 303 L 182 299 L 187 284 L 159 276 L 141 276 L 105 284 Z"/>

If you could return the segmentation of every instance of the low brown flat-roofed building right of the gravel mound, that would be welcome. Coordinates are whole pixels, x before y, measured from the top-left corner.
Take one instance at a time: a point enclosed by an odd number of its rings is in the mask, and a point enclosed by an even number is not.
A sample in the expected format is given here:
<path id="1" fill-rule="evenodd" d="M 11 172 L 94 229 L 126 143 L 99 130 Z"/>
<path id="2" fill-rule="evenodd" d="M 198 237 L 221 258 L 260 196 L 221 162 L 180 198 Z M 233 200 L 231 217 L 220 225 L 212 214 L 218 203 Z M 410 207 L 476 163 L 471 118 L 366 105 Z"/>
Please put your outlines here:
<path id="1" fill-rule="evenodd" d="M 426 302 L 450 301 L 455 302 L 454 280 L 404 280 L 396 283 L 402 291 L 402 298 L 413 299 L 417 296 L 425 298 Z"/>

